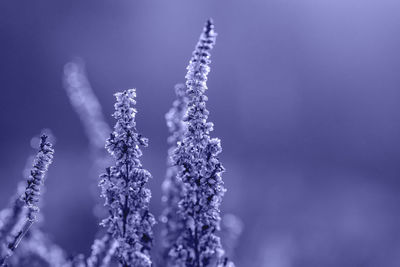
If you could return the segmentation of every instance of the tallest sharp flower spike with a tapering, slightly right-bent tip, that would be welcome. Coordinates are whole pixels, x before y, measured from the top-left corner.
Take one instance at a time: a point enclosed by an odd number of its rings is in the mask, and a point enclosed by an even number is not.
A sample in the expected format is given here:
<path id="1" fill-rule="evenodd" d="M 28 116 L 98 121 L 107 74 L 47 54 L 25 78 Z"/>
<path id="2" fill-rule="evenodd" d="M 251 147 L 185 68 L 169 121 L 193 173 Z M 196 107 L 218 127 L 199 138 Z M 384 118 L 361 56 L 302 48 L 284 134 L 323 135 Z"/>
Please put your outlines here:
<path id="1" fill-rule="evenodd" d="M 233 266 L 216 235 L 221 220 L 219 207 L 226 190 L 221 178 L 224 168 L 217 157 L 222 150 L 220 140 L 210 137 L 213 124 L 207 122 L 205 91 L 215 38 L 214 25 L 208 20 L 187 68 L 187 131 L 173 156 L 180 168 L 178 179 L 184 183 L 179 213 L 186 231 L 169 253 L 173 266 Z"/>

